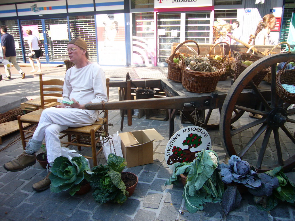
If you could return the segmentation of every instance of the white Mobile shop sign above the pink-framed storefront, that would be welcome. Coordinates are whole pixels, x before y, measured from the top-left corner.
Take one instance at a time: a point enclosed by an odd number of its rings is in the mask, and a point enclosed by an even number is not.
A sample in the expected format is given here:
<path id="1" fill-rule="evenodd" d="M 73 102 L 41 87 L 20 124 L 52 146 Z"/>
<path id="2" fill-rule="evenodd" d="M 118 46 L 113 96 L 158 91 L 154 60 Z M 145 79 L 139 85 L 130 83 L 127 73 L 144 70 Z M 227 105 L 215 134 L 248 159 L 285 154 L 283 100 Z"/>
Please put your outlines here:
<path id="1" fill-rule="evenodd" d="M 183 8 L 183 7 L 204 7 L 212 6 L 208 0 L 154 0 L 154 8 Z"/>

